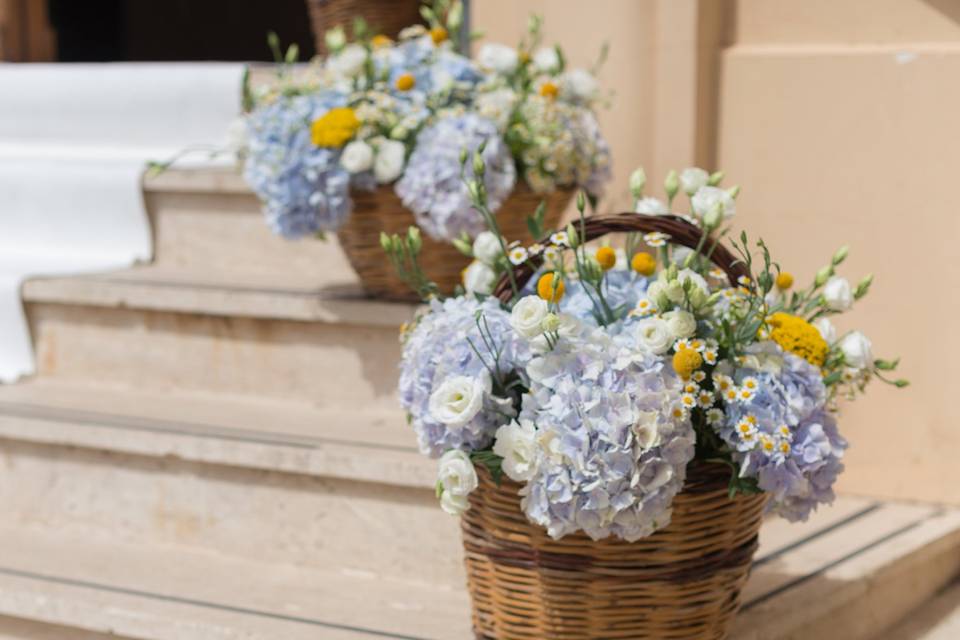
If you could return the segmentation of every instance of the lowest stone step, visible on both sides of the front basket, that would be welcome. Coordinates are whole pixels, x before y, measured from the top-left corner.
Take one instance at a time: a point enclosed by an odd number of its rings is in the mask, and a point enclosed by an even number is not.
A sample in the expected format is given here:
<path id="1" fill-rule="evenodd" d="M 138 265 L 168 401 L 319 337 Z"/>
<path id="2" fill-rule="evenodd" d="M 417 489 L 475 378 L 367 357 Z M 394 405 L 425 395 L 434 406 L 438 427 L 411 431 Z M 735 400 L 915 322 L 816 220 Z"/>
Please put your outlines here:
<path id="1" fill-rule="evenodd" d="M 470 637 L 462 583 L 420 571 L 384 578 L 51 531 L 0 528 L 0 547 L 18 551 L 0 561 L 0 637 Z M 957 575 L 958 550 L 960 512 L 933 506 L 840 498 L 803 525 L 771 520 L 731 638 L 890 637 L 883 634 Z M 12 635 L 11 621 L 34 625 L 34 635 Z M 38 635 L 43 625 L 78 631 Z"/>

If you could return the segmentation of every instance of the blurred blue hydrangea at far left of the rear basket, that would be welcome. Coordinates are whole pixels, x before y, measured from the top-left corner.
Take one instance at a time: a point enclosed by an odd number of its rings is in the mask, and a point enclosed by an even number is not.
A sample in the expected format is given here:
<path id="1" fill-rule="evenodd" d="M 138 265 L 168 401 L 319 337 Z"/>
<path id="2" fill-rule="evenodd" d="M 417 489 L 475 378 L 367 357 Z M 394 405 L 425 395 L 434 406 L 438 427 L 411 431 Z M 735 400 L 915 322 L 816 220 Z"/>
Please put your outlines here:
<path id="1" fill-rule="evenodd" d="M 310 124 L 346 104 L 336 92 L 280 97 L 248 119 L 244 178 L 270 228 L 286 238 L 334 231 L 350 214 L 350 174 L 340 150 L 310 140 Z"/>

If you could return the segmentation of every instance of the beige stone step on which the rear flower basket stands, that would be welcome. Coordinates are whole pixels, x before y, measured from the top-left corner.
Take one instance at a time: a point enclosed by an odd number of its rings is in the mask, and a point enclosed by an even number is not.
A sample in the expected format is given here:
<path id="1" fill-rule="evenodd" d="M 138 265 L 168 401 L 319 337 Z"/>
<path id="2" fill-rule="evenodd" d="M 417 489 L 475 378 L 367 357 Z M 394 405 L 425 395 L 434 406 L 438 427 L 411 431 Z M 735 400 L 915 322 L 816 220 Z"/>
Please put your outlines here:
<path id="1" fill-rule="evenodd" d="M 396 404 L 415 306 L 356 289 L 152 265 L 23 287 L 41 378 L 133 389 Z"/>

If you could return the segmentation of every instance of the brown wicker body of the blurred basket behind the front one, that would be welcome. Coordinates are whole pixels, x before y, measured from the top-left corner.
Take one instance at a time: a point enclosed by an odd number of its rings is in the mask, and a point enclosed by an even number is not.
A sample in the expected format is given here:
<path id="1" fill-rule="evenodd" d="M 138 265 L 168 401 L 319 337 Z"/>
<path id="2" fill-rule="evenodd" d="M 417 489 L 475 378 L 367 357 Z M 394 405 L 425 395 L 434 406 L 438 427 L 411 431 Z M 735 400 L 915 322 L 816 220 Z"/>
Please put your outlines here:
<path id="1" fill-rule="evenodd" d="M 544 199 L 547 202 L 544 224 L 548 228 L 554 227 L 572 194 L 571 190 L 558 190 L 541 196 L 531 191 L 525 183 L 518 183 L 497 211 L 500 231 L 508 240 L 520 240 L 528 236 L 530 232 L 526 219 Z M 394 272 L 380 246 L 380 232 L 405 234 L 408 227 L 416 224 L 413 213 L 403 206 L 393 187 L 380 187 L 373 192 L 358 191 L 352 193 L 351 197 L 353 212 L 337 231 L 337 237 L 364 290 L 373 297 L 386 300 L 419 300 L 417 294 Z M 453 292 L 454 287 L 460 284 L 461 274 L 469 262 L 470 259 L 453 245 L 424 235 L 420 264 L 442 292 Z"/>

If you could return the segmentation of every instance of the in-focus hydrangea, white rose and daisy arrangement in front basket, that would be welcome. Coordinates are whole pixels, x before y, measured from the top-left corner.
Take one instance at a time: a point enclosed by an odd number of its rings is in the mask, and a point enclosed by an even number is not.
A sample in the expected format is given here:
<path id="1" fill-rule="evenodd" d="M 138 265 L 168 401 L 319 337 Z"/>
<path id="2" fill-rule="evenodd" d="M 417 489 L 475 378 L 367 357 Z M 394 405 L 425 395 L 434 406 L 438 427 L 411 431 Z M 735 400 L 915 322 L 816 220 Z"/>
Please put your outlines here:
<path id="1" fill-rule="evenodd" d="M 635 215 L 672 212 L 699 230 L 695 247 L 663 232 L 630 234 L 624 249 L 585 244 L 581 193 L 579 229 L 511 248 L 486 204 L 483 156 L 473 164 L 468 190 L 489 229 L 464 249 L 526 265 L 530 282 L 504 267 L 505 295 L 441 299 L 417 268 L 417 230 L 382 238 L 429 305 L 402 331 L 399 394 L 421 451 L 440 460 L 445 511 L 469 508 L 485 467 L 522 485 L 526 517 L 550 536 L 633 541 L 670 522 L 695 460 L 726 465 L 731 497 L 766 492 L 789 520 L 833 500 L 847 449 L 838 400 L 873 378 L 907 384 L 887 378 L 897 361 L 875 358 L 866 336 L 833 326 L 872 282 L 837 273 L 846 247 L 801 288 L 742 234 L 744 275 L 730 282 L 711 256 L 739 188 L 692 168 L 670 173 L 662 200 L 645 195 L 642 170 L 630 186 Z"/>

